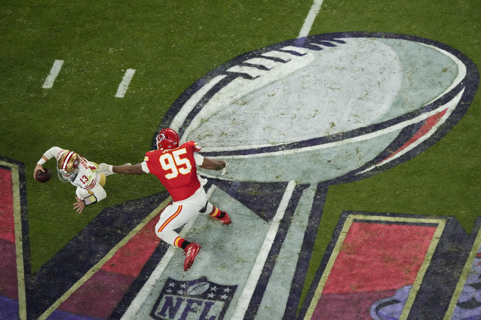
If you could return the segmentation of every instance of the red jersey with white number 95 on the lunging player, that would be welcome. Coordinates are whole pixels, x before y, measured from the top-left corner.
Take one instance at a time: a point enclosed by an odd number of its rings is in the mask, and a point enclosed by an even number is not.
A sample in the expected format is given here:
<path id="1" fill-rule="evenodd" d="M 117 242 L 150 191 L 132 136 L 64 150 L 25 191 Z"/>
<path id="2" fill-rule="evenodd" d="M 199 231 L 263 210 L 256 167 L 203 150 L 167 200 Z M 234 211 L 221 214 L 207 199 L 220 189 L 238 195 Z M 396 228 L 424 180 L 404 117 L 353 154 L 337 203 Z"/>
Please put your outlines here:
<path id="1" fill-rule="evenodd" d="M 187 141 L 175 149 L 145 153 L 150 173 L 159 178 L 174 201 L 188 198 L 200 187 L 194 159 L 194 152 L 198 151 L 197 143 Z"/>

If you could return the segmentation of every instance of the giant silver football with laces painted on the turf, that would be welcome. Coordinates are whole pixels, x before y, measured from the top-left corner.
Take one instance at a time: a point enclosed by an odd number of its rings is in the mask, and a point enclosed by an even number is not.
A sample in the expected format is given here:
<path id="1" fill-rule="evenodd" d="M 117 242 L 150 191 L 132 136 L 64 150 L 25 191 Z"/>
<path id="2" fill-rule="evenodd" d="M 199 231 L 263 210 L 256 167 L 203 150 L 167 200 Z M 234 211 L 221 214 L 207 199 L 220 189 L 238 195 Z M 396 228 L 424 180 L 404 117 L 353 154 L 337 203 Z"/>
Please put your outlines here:
<path id="1" fill-rule="evenodd" d="M 160 127 L 229 163 L 232 181 L 359 179 L 406 161 L 467 111 L 475 65 L 416 36 L 342 32 L 239 55 L 197 80 Z"/>

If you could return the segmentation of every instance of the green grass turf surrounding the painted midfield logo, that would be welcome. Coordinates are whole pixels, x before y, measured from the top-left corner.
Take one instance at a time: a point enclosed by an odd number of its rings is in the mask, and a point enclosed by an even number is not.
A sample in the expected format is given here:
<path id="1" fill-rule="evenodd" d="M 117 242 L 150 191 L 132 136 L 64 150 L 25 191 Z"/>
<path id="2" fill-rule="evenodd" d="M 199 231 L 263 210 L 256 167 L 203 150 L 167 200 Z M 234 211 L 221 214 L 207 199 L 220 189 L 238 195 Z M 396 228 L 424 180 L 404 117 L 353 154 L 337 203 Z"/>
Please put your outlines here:
<path id="1" fill-rule="evenodd" d="M 51 146 L 96 162 L 140 162 L 174 100 L 214 67 L 296 38 L 312 1 L 9 1 L 0 3 L 0 155 L 25 163 L 32 272 L 102 209 L 163 191 L 154 176 L 109 178 L 82 215 L 74 187 L 34 180 Z M 448 44 L 481 65 L 479 1 L 325 0 L 309 34 L 381 31 Z M 55 59 L 64 65 L 42 88 Z M 136 69 L 123 98 L 127 68 Z M 455 216 L 470 232 L 481 208 L 481 99 L 417 157 L 329 188 L 308 288 L 342 210 Z M 222 123 L 219 123 L 221 129 Z M 55 163 L 46 163 L 55 173 Z"/>

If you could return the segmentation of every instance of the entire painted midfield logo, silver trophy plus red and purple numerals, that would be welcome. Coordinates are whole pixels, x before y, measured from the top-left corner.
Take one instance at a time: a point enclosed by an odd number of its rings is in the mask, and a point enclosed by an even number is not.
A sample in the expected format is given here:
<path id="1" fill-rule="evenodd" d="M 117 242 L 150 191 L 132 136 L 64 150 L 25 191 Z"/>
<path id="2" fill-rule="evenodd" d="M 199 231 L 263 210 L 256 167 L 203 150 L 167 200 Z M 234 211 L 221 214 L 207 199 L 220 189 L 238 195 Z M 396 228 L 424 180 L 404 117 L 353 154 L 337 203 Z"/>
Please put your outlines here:
<path id="1" fill-rule="evenodd" d="M 228 162 L 199 173 L 232 223 L 178 230 L 202 246 L 187 272 L 153 232 L 161 192 L 105 208 L 32 273 L 25 165 L 0 155 L 0 319 L 477 319 L 481 217 L 467 234 L 454 216 L 344 211 L 300 301 L 329 186 L 433 145 L 478 84 L 450 46 L 380 32 L 292 39 L 208 72 L 157 130 Z"/>

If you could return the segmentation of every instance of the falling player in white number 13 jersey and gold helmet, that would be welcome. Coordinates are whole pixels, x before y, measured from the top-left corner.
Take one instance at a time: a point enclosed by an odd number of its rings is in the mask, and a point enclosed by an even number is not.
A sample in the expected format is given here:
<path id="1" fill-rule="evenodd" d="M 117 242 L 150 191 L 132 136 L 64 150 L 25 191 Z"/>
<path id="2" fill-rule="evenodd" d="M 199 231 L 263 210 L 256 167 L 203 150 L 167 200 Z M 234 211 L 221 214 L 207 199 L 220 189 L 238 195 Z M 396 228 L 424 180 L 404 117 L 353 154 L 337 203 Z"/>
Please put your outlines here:
<path id="1" fill-rule="evenodd" d="M 53 146 L 48 149 L 37 162 L 34 177 L 38 170 L 45 171 L 42 164 L 51 158 L 57 159 L 57 174 L 63 182 L 70 182 L 77 187 L 75 191 L 77 200 L 74 210 L 80 214 L 86 205 L 105 199 L 107 193 L 103 186 L 105 177 L 112 173 L 100 173 L 98 164 L 80 156 L 77 152 Z"/>

